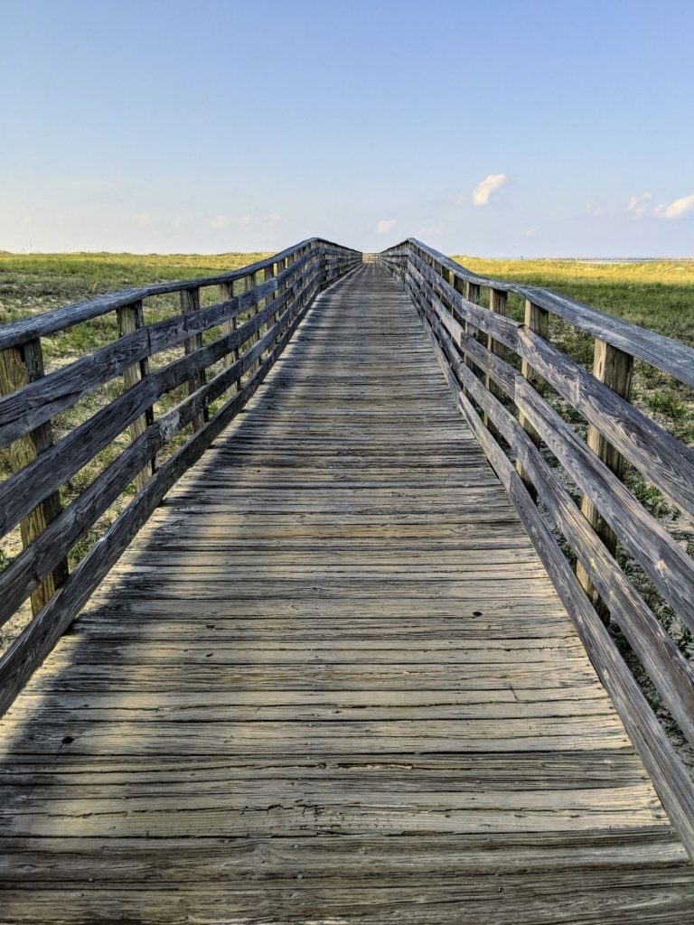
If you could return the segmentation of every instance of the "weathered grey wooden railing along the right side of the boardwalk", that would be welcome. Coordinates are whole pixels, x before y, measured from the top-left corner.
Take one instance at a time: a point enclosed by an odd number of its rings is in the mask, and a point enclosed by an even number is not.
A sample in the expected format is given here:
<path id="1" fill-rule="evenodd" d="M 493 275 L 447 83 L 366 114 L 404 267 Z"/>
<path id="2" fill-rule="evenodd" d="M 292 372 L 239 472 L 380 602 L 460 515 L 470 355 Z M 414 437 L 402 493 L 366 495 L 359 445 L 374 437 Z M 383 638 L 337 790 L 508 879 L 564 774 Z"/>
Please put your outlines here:
<path id="1" fill-rule="evenodd" d="M 691 387 L 694 351 L 549 290 L 478 277 L 417 240 L 379 260 L 425 319 L 460 410 L 514 500 L 694 855 L 692 780 L 606 625 L 610 614 L 694 745 L 694 666 L 617 554 L 619 544 L 694 631 L 694 562 L 622 481 L 626 460 L 694 515 L 694 451 L 628 401 L 634 358 Z M 525 300 L 524 322 L 506 314 L 509 293 Z M 592 375 L 551 342 L 552 315 L 595 340 Z M 586 439 L 558 413 L 563 402 L 588 424 Z M 580 503 L 569 484 L 582 495 Z"/>

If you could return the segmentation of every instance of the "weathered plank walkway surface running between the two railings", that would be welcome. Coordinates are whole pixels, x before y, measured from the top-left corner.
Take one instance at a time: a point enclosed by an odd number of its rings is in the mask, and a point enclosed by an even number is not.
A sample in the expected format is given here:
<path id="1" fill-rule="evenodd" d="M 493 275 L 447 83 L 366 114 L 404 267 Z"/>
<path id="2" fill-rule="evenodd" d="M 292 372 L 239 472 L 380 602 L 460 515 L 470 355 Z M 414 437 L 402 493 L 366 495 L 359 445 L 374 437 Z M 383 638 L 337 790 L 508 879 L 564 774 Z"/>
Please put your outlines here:
<path id="1" fill-rule="evenodd" d="M 685 922 L 415 309 L 323 293 L 2 723 L 3 922 Z"/>

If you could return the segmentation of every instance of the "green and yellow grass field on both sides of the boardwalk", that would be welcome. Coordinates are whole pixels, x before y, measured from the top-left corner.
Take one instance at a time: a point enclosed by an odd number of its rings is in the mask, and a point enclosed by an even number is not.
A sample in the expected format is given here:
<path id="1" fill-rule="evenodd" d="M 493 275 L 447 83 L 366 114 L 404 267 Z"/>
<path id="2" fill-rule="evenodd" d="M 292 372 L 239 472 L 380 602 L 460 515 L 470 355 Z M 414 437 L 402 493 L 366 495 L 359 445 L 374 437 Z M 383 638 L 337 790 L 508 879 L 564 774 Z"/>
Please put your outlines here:
<path id="1" fill-rule="evenodd" d="M 0 253 L 0 324 L 46 312 L 70 302 L 79 302 L 110 290 L 164 280 L 212 276 L 224 270 L 251 264 L 264 256 L 266 253 L 222 253 L 211 256 Z M 454 259 L 482 276 L 546 287 L 571 296 L 579 302 L 585 302 L 607 314 L 626 318 L 634 324 L 649 327 L 667 337 L 694 346 L 694 260 L 617 264 L 575 260 L 498 261 L 467 256 L 456 256 Z M 203 304 L 214 301 L 215 291 L 207 291 Z M 148 300 L 146 304 L 149 307 L 145 308 L 145 322 L 151 323 L 179 313 L 178 296 L 156 297 L 154 300 Z M 509 314 L 516 320 L 523 319 L 524 305 L 520 298 L 511 295 L 508 309 Z M 207 334 L 210 339 L 217 336 L 213 332 Z M 49 373 L 84 356 L 117 336 L 114 313 L 111 313 L 92 322 L 69 328 L 56 337 L 45 338 L 45 371 Z M 578 363 L 586 368 L 591 367 L 592 341 L 588 336 L 552 318 L 550 337 L 552 342 Z M 155 365 L 171 362 L 180 354 L 180 350 L 181 348 L 177 348 L 157 355 L 154 358 Z M 113 380 L 79 401 L 68 412 L 58 415 L 53 422 L 54 439 L 60 439 L 105 403 L 113 401 L 122 388 L 120 378 Z M 163 413 L 181 401 L 186 394 L 185 389 L 185 386 L 181 386 L 168 393 L 162 401 L 157 402 L 155 413 Z M 580 415 L 558 395 L 550 398 L 565 419 L 585 435 L 586 423 Z M 632 401 L 676 438 L 690 446 L 694 444 L 694 395 L 690 389 L 638 362 L 634 370 Z M 180 439 L 185 439 L 185 436 L 180 435 Z M 96 475 L 99 475 L 128 445 L 129 440 L 129 433 L 126 431 L 80 473 L 71 478 L 61 489 L 63 504 L 69 504 L 77 498 L 81 491 L 93 482 Z M 170 448 L 168 451 L 171 451 Z M 0 478 L 9 475 L 9 471 L 7 451 L 2 450 Z M 632 467 L 626 467 L 625 478 L 638 499 L 675 536 L 682 548 L 686 549 L 689 555 L 694 555 L 694 524 Z M 566 487 L 578 501 L 576 487 L 571 484 L 567 484 Z M 89 536 L 82 539 L 72 550 L 71 567 L 74 567 L 98 537 L 105 533 L 118 513 L 128 504 L 134 490 L 134 486 L 130 486 L 126 494 L 121 496 L 94 525 Z M 0 570 L 19 552 L 19 530 L 6 537 L 4 542 L 4 547 L 0 549 Z M 618 556 L 640 594 L 657 612 L 679 648 L 689 658 L 694 656 L 694 639 L 689 631 L 676 620 L 673 611 L 659 598 L 655 588 L 636 563 L 629 560 L 624 550 L 619 549 Z M 19 629 L 26 624 L 30 615 L 29 605 L 26 604 L 15 620 L 3 627 L 0 631 L 0 650 L 6 648 Z M 629 658 L 626 643 L 619 639 L 618 630 L 615 629 L 613 632 Z M 669 724 L 669 718 L 663 712 L 648 678 L 640 671 L 638 664 L 633 659 L 630 660 L 654 708 L 661 714 L 663 721 Z M 676 731 L 674 734 L 676 737 Z M 680 747 L 683 746 L 682 742 L 678 744 Z M 683 757 L 690 766 L 694 764 L 694 759 L 686 750 Z"/>

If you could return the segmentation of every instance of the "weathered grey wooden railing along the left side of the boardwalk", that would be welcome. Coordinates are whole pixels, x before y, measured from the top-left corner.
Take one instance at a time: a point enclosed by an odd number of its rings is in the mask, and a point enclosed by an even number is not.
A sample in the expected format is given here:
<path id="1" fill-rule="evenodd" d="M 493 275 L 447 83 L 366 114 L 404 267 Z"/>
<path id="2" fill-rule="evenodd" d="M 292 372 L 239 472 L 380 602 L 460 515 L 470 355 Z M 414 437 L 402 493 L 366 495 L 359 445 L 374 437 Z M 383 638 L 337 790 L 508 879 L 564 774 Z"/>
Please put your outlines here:
<path id="1" fill-rule="evenodd" d="M 12 470 L 0 483 L 0 536 L 20 524 L 23 548 L 0 573 L 0 625 L 30 597 L 33 611 L 0 659 L 0 713 L 167 489 L 249 401 L 316 293 L 360 262 L 360 253 L 305 240 L 217 277 L 112 292 L 0 327 L 0 449 L 9 446 Z M 217 301 L 201 307 L 211 289 Z M 170 293 L 180 293 L 180 311 L 145 324 L 148 303 Z M 44 375 L 42 338 L 110 313 L 117 339 Z M 176 345 L 182 355 L 170 361 L 162 351 Z M 56 415 L 120 377 L 118 397 L 54 443 Z M 157 416 L 155 402 L 186 383 L 188 397 Z M 130 446 L 61 507 L 61 487 L 128 428 Z M 171 441 L 175 451 L 158 464 Z M 128 506 L 68 573 L 70 550 L 133 484 Z"/>

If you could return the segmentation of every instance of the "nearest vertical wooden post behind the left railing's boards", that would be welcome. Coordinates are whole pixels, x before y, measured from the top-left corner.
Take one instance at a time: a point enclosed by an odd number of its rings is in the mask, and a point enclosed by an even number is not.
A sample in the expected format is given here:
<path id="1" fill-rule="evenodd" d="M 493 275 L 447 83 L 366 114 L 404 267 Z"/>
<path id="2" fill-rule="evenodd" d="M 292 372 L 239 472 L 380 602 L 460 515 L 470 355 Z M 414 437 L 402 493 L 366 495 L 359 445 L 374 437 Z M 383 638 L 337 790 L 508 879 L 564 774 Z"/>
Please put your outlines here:
<path id="1" fill-rule="evenodd" d="M 0 392 L 3 395 L 9 395 L 42 376 L 43 351 L 40 339 L 28 340 L 20 347 L 0 351 Z M 51 446 L 53 431 L 51 422 L 46 421 L 10 444 L 9 462 L 12 471 L 19 472 Z M 19 524 L 22 548 L 26 549 L 37 536 L 40 536 L 60 511 L 60 495 L 56 491 L 27 514 Z M 65 584 L 67 578 L 68 560 L 64 559 L 58 562 L 53 572 L 31 592 L 31 612 L 34 616 L 56 594 L 57 589 Z"/>

